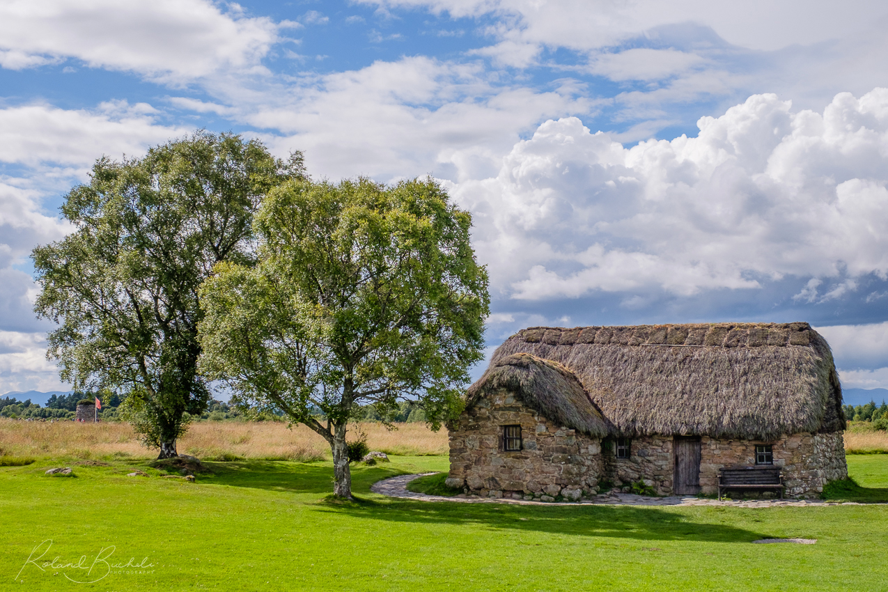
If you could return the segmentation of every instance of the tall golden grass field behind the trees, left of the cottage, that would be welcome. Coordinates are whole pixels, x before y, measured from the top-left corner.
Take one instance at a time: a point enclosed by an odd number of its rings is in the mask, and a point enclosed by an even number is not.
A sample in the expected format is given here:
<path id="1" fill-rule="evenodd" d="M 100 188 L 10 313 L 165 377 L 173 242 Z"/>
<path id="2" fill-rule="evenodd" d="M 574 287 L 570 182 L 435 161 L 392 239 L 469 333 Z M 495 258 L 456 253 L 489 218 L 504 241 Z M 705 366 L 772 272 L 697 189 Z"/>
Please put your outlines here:
<path id="1" fill-rule="evenodd" d="M 386 454 L 447 454 L 447 430 L 424 423 L 402 423 L 387 430 L 375 422 L 357 426 L 370 450 Z M 349 426 L 353 430 L 355 426 Z M 352 432 L 353 439 L 355 432 Z M 329 458 L 327 442 L 304 425 L 281 422 L 195 422 L 178 441 L 179 454 L 203 459 L 241 457 L 262 460 L 313 461 Z M 151 458 L 157 454 L 139 444 L 128 423 L 22 422 L 0 418 L 0 456 L 75 456 L 77 458 Z"/>

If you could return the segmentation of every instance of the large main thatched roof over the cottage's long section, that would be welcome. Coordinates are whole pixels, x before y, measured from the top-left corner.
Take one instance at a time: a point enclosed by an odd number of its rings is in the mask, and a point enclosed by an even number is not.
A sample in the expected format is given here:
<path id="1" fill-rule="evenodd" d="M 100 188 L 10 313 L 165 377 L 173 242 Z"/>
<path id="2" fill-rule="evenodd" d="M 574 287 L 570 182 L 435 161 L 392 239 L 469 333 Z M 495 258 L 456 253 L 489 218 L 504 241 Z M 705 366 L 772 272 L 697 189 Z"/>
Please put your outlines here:
<path id="1" fill-rule="evenodd" d="M 832 353 L 807 323 L 527 328 L 491 368 L 518 352 L 573 372 L 614 434 L 767 440 L 845 427 Z"/>

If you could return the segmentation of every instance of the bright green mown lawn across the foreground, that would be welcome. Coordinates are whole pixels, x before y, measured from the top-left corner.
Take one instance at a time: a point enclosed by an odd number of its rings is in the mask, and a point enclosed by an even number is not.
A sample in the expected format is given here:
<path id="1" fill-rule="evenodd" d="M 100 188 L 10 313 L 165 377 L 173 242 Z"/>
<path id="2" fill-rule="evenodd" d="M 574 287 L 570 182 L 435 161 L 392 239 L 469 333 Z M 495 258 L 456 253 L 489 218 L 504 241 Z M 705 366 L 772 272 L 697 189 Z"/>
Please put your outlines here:
<path id="1" fill-rule="evenodd" d="M 0 467 L 0 590 L 888 588 L 888 506 L 528 507 L 369 493 L 380 478 L 447 469 L 446 457 L 397 456 L 355 468 L 360 500 L 341 503 L 327 498 L 326 462 L 209 463 L 216 472 L 194 484 L 159 478 L 144 463 L 109 462 Z M 76 477 L 44 476 L 59 464 Z M 860 485 L 888 487 L 888 455 L 849 465 Z M 124 476 L 133 469 L 152 477 Z M 750 544 L 766 537 L 818 542 Z M 46 555 L 26 564 L 49 540 Z M 115 568 L 93 584 L 66 575 L 95 580 L 104 564 L 91 574 L 38 567 L 81 556 L 89 566 L 102 549 L 108 564 L 147 557 L 151 565 Z"/>

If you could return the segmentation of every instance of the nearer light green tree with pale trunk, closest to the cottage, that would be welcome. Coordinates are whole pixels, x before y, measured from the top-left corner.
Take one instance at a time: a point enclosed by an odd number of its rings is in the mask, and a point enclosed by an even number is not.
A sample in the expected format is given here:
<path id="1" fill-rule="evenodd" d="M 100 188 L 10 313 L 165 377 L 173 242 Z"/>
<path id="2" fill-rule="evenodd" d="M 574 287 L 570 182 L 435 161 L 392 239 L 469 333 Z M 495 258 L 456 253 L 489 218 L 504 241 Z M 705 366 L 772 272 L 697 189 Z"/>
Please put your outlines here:
<path id="1" fill-rule="evenodd" d="M 489 307 L 471 225 L 432 179 L 281 185 L 256 216 L 258 264 L 203 284 L 202 372 L 325 438 L 351 497 L 359 404 L 385 416 L 419 399 L 434 429 L 462 410 Z"/>

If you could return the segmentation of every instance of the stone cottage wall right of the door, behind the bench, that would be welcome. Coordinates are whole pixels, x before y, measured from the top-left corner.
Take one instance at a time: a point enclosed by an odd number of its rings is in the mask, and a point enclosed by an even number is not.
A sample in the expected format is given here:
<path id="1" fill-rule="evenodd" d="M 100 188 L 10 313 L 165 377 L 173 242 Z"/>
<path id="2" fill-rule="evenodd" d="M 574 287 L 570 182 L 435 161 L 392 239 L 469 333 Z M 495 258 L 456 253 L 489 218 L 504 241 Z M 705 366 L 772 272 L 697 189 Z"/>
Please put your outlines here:
<path id="1" fill-rule="evenodd" d="M 700 462 L 701 493 L 718 492 L 718 470 L 722 467 L 753 466 L 756 462 L 757 444 L 772 446 L 773 463 L 782 469 L 783 484 L 786 485 L 784 494 L 788 497 L 818 497 L 827 482 L 848 477 L 842 432 L 831 434 L 805 432 L 784 436 L 773 442 L 718 440 L 704 436 Z M 743 494 L 747 497 L 757 495 L 755 492 Z"/>

